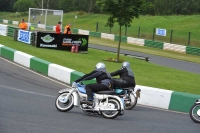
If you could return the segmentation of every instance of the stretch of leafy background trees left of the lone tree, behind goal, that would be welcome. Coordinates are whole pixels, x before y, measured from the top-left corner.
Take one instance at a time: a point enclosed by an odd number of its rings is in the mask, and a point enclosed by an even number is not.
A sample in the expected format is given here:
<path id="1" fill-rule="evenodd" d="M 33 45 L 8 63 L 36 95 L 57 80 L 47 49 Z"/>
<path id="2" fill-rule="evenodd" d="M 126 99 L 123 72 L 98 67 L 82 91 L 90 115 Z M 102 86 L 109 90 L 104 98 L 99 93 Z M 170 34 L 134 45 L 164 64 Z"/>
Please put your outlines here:
<path id="1" fill-rule="evenodd" d="M 42 5 L 43 2 L 43 5 Z M 96 0 L 0 0 L 0 11 L 23 12 L 29 8 L 98 13 Z"/>

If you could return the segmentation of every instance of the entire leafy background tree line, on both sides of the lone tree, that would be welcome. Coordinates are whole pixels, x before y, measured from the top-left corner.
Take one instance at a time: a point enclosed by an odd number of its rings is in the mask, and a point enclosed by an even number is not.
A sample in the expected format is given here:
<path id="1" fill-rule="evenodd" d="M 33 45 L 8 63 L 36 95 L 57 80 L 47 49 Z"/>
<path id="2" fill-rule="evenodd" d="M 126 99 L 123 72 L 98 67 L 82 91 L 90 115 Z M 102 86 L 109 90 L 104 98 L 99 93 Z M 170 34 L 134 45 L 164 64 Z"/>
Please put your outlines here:
<path id="1" fill-rule="evenodd" d="M 23 12 L 28 11 L 29 7 L 43 7 L 45 9 L 63 10 L 65 13 L 71 11 L 102 13 L 100 10 L 101 6 L 97 6 L 97 1 L 98 0 L 0 0 L 0 11 Z M 191 15 L 200 13 L 200 0 L 142 0 L 142 3 L 140 14 L 143 15 Z"/>

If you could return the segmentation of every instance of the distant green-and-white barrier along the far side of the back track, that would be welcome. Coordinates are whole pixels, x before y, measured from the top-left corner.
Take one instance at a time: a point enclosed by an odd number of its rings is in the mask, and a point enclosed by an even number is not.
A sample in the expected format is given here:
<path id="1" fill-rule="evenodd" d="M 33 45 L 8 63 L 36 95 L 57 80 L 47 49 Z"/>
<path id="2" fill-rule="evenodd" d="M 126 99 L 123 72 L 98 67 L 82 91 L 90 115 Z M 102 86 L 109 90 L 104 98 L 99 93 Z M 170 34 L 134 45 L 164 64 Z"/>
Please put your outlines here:
<path id="1" fill-rule="evenodd" d="M 14 40 L 17 41 L 18 29 L 19 28 L 15 27 L 15 26 L 8 26 L 7 36 L 14 37 Z M 53 30 L 53 27 L 49 27 L 49 29 Z M 94 32 L 94 31 L 88 31 L 88 30 L 81 30 L 81 29 L 77 29 L 77 28 L 74 28 L 72 32 L 73 32 L 73 34 L 85 34 L 85 35 L 109 39 L 109 40 L 113 40 L 113 41 L 119 40 L 118 35 L 107 34 L 105 32 L 104 33 Z M 37 33 L 33 31 L 31 34 L 31 44 L 34 46 L 36 44 L 36 40 L 37 40 L 36 38 L 37 38 Z M 137 37 L 134 38 L 134 37 L 121 36 L 121 41 L 125 42 L 125 43 L 140 45 L 140 46 L 147 46 L 147 47 L 153 47 L 153 48 L 158 48 L 158 49 L 163 49 L 163 50 L 169 50 L 169 51 L 174 51 L 174 52 L 179 52 L 179 53 L 193 54 L 193 55 L 200 56 L 200 48 L 198 48 L 198 47 L 193 47 L 191 45 L 190 46 L 179 45 L 179 44 L 175 44 L 175 43 L 156 41 L 155 38 L 156 38 L 155 36 L 153 37 L 153 39 L 141 39 L 141 38 L 137 38 Z"/>

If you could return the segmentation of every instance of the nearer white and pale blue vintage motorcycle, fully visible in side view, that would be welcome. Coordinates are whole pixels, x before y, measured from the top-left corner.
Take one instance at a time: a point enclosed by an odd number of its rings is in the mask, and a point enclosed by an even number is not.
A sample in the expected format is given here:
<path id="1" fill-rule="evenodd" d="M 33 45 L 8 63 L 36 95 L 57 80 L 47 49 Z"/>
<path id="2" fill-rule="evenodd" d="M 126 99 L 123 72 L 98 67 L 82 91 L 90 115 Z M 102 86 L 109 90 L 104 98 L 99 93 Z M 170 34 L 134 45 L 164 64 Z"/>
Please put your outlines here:
<path id="1" fill-rule="evenodd" d="M 90 112 L 102 115 L 105 118 L 113 119 L 123 115 L 124 101 L 116 95 L 115 91 L 99 91 L 93 93 L 93 105 L 82 104 L 80 100 L 86 99 L 85 85 L 75 83 L 71 89 L 62 89 L 56 98 L 55 105 L 59 111 L 70 111 L 74 106 L 79 106 L 83 112 Z"/>

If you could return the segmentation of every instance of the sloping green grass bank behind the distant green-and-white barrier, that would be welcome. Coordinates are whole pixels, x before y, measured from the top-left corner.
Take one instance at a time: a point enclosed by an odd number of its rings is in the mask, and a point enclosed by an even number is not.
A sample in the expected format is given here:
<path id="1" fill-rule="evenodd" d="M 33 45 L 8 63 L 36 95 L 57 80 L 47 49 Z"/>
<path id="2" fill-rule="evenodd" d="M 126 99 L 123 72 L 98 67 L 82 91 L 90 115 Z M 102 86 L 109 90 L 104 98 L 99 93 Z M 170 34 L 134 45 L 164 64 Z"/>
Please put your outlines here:
<path id="1" fill-rule="evenodd" d="M 78 16 L 75 19 L 75 15 Z M 0 18 L 7 20 L 20 21 L 21 18 L 28 20 L 28 16 L 15 16 L 15 13 L 0 13 Z M 38 16 L 39 18 L 40 16 Z M 108 16 L 103 14 L 86 14 L 80 12 L 65 13 L 63 17 L 63 26 L 68 23 L 72 24 L 72 28 L 96 31 L 98 22 L 98 32 L 110 33 L 110 28 L 105 27 Z M 56 24 L 58 20 L 51 19 Z M 139 19 L 133 19 L 131 27 L 127 29 L 127 36 L 152 40 L 153 29 L 162 28 L 167 30 L 167 36 L 156 36 L 155 41 L 170 42 L 171 30 L 172 42 L 174 44 L 188 45 L 190 32 L 190 46 L 200 47 L 199 35 L 200 31 L 200 15 L 190 16 L 140 16 Z M 138 37 L 138 30 L 140 34 Z M 111 30 L 112 34 L 118 34 L 119 26 L 115 24 Z M 125 27 L 122 28 L 122 35 L 125 35 Z"/>

